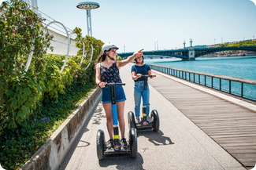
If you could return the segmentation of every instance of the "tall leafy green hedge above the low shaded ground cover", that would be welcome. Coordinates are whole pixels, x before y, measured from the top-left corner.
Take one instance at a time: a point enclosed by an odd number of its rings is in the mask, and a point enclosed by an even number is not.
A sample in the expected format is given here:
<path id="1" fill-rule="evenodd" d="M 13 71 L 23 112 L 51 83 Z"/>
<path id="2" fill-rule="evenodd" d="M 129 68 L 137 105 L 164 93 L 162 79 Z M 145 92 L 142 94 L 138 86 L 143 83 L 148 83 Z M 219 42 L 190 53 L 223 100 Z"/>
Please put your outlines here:
<path id="1" fill-rule="evenodd" d="M 4 128 L 23 125 L 42 102 L 64 94 L 64 89 L 69 88 L 75 80 L 82 84 L 93 81 L 94 71 L 92 66 L 85 71 L 80 67 L 80 57 L 74 56 L 69 57 L 65 70 L 60 72 L 65 56 L 45 55 L 51 37 L 43 34 L 43 19 L 28 9 L 25 2 L 2 2 L 0 10 L 5 11 L 0 16 L 1 136 Z M 91 51 L 91 45 L 94 45 L 95 60 L 102 42 L 89 36 L 81 38 L 80 28 L 75 31 L 79 34 L 77 40 L 87 45 L 86 50 Z M 25 71 L 25 63 L 31 53 L 32 63 Z M 87 65 L 87 61 L 83 60 L 83 65 Z"/>

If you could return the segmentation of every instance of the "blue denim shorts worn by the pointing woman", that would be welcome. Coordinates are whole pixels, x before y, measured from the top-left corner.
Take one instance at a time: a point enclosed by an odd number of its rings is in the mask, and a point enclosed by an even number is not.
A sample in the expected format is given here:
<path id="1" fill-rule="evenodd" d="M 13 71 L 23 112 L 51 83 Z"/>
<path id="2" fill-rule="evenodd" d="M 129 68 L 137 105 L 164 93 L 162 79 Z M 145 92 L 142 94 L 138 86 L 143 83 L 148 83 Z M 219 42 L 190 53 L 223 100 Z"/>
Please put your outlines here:
<path id="1" fill-rule="evenodd" d="M 126 100 L 122 85 L 116 85 L 115 92 L 116 92 L 117 102 L 123 102 Z M 106 86 L 105 88 L 102 88 L 102 103 L 111 103 L 110 86 Z"/>

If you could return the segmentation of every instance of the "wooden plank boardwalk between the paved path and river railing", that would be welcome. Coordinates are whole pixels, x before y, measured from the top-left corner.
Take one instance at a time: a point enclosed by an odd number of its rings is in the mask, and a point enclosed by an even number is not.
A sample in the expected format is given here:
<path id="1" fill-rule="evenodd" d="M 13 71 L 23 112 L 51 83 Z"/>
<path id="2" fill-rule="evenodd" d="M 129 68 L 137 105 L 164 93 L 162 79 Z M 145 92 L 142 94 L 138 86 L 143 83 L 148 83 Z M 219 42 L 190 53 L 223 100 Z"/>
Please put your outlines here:
<path id="1" fill-rule="evenodd" d="M 243 166 L 254 167 L 256 112 L 161 74 L 149 83 Z"/>

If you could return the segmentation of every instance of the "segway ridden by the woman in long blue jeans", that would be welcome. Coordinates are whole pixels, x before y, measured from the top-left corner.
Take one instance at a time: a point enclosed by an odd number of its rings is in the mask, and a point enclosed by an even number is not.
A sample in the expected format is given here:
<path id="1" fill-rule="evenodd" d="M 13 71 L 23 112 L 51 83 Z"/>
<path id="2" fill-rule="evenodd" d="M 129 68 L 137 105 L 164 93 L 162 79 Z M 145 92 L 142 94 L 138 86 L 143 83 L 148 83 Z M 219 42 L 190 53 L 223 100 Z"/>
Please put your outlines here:
<path id="1" fill-rule="evenodd" d="M 144 78 L 144 87 L 143 90 L 147 90 L 147 79 L 155 75 L 142 75 Z M 140 118 L 139 124 L 135 124 L 135 114 L 132 111 L 128 112 L 128 124 L 130 128 L 136 128 L 137 130 L 143 129 L 153 129 L 154 132 L 158 132 L 159 130 L 159 115 L 157 110 L 152 110 L 150 113 L 151 121 L 147 121 L 147 114 L 146 114 L 147 106 L 143 106 L 143 117 Z"/>

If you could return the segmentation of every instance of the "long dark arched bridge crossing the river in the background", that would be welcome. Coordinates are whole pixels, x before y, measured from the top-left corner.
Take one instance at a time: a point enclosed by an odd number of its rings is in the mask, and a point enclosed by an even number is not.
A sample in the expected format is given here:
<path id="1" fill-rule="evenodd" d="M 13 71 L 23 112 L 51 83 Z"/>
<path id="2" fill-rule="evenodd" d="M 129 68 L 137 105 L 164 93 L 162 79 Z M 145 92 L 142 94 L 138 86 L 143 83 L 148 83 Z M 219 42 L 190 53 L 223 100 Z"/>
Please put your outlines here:
<path id="1" fill-rule="evenodd" d="M 156 55 L 156 56 L 174 56 L 177 58 L 181 58 L 183 60 L 189 60 L 190 55 L 189 53 L 191 50 L 194 50 L 195 56 L 194 59 L 199 56 L 204 56 L 206 54 L 214 53 L 214 52 L 221 52 L 221 51 L 228 51 L 228 50 L 245 50 L 245 51 L 252 51 L 256 52 L 256 45 L 255 46 L 233 46 L 233 47 L 212 47 L 212 48 L 193 48 L 190 47 L 188 49 L 170 49 L 170 50 L 160 50 L 160 51 L 143 51 L 145 56 L 147 55 Z M 122 58 L 131 56 L 133 52 L 125 52 L 125 53 L 118 53 L 119 56 Z"/>

